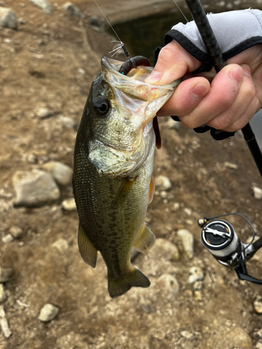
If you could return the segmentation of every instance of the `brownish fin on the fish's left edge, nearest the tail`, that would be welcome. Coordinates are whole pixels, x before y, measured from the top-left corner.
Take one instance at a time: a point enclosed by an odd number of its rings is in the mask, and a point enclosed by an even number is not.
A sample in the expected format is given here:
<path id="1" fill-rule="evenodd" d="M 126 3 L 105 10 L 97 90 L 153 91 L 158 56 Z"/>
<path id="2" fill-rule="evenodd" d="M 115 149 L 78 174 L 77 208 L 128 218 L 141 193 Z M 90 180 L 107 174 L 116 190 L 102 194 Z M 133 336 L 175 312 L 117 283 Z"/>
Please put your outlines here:
<path id="1" fill-rule="evenodd" d="M 84 262 L 95 268 L 97 260 L 97 249 L 94 247 L 89 237 L 85 233 L 84 228 L 82 228 L 82 225 L 80 224 L 78 228 L 78 248 Z"/>

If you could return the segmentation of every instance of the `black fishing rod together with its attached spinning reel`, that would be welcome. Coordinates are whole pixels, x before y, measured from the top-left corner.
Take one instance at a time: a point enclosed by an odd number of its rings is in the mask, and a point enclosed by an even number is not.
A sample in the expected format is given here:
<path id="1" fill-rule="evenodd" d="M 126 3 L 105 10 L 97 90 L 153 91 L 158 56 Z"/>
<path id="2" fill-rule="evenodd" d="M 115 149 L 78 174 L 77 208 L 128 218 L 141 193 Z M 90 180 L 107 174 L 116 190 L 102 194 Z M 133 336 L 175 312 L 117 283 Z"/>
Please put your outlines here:
<path id="1" fill-rule="evenodd" d="M 199 0 L 185 0 L 191 12 L 198 31 L 201 34 L 205 47 L 210 54 L 210 58 L 214 64 L 217 73 L 226 66 L 221 50 L 214 36 L 208 17 L 205 14 L 201 2 Z M 248 123 L 242 128 L 242 134 L 254 158 L 256 167 L 262 176 L 262 154 L 259 145 L 256 142 L 255 135 Z M 253 237 L 249 244 L 241 242 L 231 223 L 219 219 L 224 216 L 238 215 L 249 223 L 252 228 Z M 205 248 L 212 254 L 217 261 L 225 267 L 233 267 L 238 279 L 257 283 L 262 285 L 262 280 L 254 278 L 247 272 L 246 262 L 250 260 L 256 251 L 262 247 L 262 237 L 254 242 L 255 232 L 252 224 L 245 216 L 238 213 L 221 214 L 209 218 L 198 219 L 198 225 L 201 230 L 201 242 Z"/>

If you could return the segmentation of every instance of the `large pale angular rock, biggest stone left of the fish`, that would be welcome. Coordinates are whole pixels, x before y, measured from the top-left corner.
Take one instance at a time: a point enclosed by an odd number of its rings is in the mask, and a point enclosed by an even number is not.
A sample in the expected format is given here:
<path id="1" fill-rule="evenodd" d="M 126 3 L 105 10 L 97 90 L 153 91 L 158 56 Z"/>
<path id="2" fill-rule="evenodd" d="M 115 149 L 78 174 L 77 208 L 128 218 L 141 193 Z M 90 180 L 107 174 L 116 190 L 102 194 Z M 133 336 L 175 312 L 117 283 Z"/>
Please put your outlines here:
<path id="1" fill-rule="evenodd" d="M 13 175 L 16 206 L 38 207 L 59 199 L 60 191 L 50 173 L 17 171 Z"/>

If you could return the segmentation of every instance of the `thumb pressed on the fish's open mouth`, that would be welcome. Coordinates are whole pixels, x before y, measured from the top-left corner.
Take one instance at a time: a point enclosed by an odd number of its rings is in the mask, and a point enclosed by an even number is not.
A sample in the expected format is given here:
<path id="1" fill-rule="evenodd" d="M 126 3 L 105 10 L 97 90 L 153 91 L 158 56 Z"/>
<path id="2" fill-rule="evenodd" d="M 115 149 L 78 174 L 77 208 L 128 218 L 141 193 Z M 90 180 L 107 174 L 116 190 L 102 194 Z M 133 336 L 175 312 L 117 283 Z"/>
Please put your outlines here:
<path id="1" fill-rule="evenodd" d="M 196 70 L 201 61 L 191 56 L 175 40 L 164 46 L 159 52 L 157 64 L 145 82 L 150 84 L 170 84 L 185 73 Z"/>

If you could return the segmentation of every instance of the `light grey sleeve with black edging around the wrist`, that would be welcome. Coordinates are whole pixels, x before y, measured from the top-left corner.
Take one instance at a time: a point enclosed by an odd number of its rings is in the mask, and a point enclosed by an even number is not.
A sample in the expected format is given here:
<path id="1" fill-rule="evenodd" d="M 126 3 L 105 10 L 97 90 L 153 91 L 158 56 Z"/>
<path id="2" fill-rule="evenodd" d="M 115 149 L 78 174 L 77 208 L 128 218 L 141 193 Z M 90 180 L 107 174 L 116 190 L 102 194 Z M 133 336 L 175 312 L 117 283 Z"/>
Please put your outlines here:
<path id="1" fill-rule="evenodd" d="M 217 38 L 223 58 L 229 59 L 247 48 L 262 43 L 262 11 L 236 10 L 208 15 L 208 20 Z M 167 45 L 172 40 L 202 62 L 200 71 L 208 71 L 212 62 L 203 44 L 195 22 L 176 24 L 164 38 Z M 200 72 L 198 71 L 198 73 Z"/>

